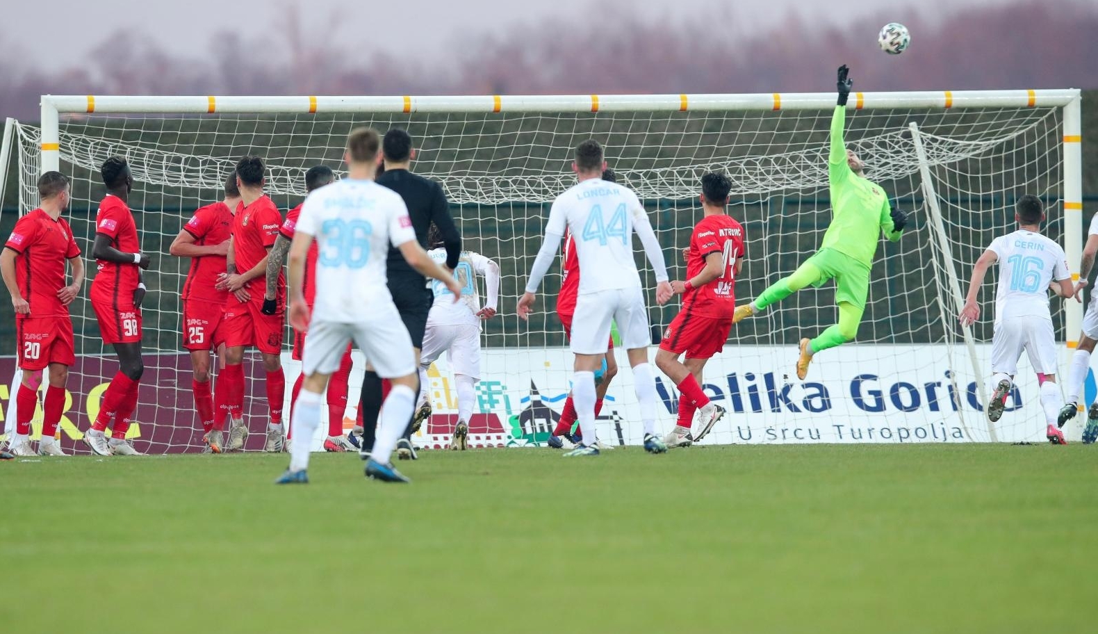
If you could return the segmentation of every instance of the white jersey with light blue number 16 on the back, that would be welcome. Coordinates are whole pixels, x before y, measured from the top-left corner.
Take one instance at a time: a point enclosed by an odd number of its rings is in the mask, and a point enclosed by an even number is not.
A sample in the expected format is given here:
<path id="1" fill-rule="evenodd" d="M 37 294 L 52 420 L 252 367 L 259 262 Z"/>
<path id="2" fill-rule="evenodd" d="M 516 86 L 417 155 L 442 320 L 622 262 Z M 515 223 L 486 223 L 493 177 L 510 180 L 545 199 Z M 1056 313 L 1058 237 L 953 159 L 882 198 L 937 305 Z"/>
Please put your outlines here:
<path id="1" fill-rule="evenodd" d="M 995 323 L 1004 319 L 1049 313 L 1049 285 L 1072 277 L 1058 244 L 1031 231 L 997 237 L 987 247 L 999 257 L 999 286 L 995 294 Z"/>

